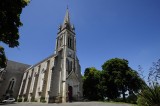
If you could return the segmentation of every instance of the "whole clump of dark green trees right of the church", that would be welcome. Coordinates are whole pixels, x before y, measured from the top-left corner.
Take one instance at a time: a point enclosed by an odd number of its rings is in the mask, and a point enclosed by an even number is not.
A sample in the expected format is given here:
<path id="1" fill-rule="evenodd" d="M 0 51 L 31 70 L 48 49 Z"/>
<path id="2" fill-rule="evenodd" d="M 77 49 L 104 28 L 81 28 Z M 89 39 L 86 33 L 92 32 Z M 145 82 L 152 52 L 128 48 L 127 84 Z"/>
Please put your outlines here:
<path id="1" fill-rule="evenodd" d="M 138 92 L 145 82 L 135 70 L 128 66 L 125 59 L 114 58 L 102 65 L 103 71 L 95 68 L 86 68 L 83 76 L 83 94 L 89 100 L 102 100 L 105 97 L 116 100 L 125 92 Z M 136 101 L 136 100 L 134 100 Z"/>

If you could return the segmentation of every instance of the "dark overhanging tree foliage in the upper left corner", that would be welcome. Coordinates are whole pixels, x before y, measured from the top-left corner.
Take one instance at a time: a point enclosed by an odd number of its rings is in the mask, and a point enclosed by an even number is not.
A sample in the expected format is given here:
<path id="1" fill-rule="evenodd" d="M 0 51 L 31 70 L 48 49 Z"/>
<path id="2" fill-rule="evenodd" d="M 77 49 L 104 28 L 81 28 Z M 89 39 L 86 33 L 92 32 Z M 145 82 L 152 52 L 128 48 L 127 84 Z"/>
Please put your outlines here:
<path id="1" fill-rule="evenodd" d="M 19 46 L 20 14 L 29 0 L 0 0 L 0 42 L 14 48 Z M 0 46 L 0 67 L 5 67 L 4 48 Z"/>

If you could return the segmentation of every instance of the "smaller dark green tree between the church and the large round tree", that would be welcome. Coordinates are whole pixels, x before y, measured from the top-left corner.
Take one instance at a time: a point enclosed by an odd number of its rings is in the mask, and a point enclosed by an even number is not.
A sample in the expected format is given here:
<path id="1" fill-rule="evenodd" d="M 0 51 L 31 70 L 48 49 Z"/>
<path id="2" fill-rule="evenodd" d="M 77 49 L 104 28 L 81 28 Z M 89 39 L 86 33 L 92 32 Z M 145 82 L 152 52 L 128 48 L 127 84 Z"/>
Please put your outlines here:
<path id="1" fill-rule="evenodd" d="M 101 95 L 101 85 L 100 85 L 100 75 L 101 72 L 92 68 L 86 68 L 83 77 L 83 95 L 89 100 L 100 100 Z"/>

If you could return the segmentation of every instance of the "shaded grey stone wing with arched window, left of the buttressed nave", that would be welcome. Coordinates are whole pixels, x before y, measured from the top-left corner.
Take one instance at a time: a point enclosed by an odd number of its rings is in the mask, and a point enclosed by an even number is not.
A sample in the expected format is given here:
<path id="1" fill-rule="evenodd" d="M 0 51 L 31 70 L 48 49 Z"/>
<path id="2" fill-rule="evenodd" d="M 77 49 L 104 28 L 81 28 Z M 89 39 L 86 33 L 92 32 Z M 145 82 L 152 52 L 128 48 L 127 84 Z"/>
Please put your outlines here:
<path id="1" fill-rule="evenodd" d="M 0 98 L 4 99 L 6 96 L 17 98 L 23 73 L 28 67 L 30 65 L 8 60 L 4 81 L 0 84 Z M 12 80 L 14 82 L 10 84 Z M 9 88 L 12 88 L 12 90 Z"/>

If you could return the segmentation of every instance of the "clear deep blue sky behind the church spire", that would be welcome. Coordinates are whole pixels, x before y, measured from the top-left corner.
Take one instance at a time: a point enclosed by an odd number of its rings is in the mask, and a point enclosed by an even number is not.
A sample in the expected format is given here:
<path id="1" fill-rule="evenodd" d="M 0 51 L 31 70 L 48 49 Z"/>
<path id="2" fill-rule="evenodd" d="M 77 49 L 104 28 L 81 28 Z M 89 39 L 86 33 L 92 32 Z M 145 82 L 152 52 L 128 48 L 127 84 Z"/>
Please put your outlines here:
<path id="1" fill-rule="evenodd" d="M 147 76 L 160 59 L 160 0 L 31 0 L 21 14 L 20 46 L 0 43 L 7 58 L 34 65 L 53 54 L 67 5 L 82 73 L 124 58 L 134 70 L 141 65 Z"/>

